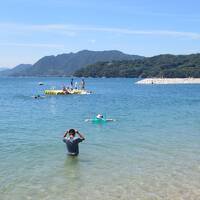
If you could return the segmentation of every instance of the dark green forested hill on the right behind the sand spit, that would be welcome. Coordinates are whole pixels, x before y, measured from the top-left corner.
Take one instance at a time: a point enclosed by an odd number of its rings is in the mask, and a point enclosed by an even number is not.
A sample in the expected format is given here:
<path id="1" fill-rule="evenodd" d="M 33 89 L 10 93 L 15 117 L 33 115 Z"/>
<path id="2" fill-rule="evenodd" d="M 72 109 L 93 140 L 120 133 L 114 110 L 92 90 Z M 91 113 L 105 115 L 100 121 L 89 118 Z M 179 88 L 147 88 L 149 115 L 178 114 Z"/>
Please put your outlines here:
<path id="1" fill-rule="evenodd" d="M 200 54 L 158 55 L 133 61 L 98 62 L 74 73 L 78 77 L 200 77 Z"/>

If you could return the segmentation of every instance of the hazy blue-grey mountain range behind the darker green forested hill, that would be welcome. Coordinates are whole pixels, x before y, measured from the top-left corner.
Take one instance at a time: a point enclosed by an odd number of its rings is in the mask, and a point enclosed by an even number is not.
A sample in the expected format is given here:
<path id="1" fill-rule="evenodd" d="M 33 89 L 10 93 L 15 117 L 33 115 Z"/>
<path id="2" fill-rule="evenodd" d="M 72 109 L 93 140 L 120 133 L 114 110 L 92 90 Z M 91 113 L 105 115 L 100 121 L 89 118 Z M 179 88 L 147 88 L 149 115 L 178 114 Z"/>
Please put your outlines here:
<path id="1" fill-rule="evenodd" d="M 45 56 L 34 65 L 19 65 L 7 73 L 0 73 L 3 76 L 70 76 L 87 65 L 99 61 L 112 60 L 134 60 L 143 58 L 137 55 L 128 55 L 120 51 L 88 51 L 83 50 L 77 53 L 61 54 L 57 56 Z"/>

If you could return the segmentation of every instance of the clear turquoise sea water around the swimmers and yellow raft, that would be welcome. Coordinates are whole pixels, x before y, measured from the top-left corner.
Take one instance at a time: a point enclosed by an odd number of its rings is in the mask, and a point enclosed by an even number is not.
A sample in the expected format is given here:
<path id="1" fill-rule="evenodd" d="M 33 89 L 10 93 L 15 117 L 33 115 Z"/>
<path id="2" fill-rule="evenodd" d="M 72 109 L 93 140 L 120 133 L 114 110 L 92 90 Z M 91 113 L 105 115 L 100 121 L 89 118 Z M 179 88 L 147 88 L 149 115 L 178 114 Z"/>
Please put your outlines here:
<path id="1" fill-rule="evenodd" d="M 33 99 L 69 79 L 1 78 L 0 199 L 200 199 L 200 85 L 134 81 Z M 84 122 L 97 113 L 116 122 Z M 86 137 L 77 158 L 62 142 L 72 127 Z"/>

